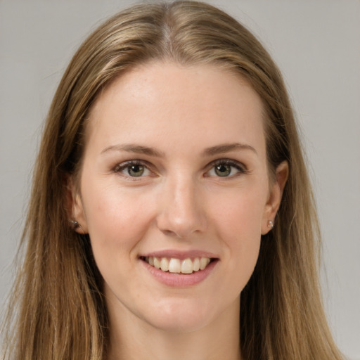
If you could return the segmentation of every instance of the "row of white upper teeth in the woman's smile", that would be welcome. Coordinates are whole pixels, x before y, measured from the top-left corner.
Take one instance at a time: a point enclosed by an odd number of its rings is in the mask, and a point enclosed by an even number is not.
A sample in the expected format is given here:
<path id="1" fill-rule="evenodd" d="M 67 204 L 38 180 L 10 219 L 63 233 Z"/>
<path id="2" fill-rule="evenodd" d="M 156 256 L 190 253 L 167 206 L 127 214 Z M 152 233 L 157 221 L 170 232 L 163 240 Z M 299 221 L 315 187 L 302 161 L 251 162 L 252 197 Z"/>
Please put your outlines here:
<path id="1" fill-rule="evenodd" d="M 192 274 L 193 271 L 204 270 L 205 267 L 210 264 L 208 257 L 195 257 L 193 260 L 190 259 L 190 257 L 184 260 L 174 257 L 171 259 L 167 259 L 167 257 L 146 257 L 145 261 L 156 269 L 177 274 Z"/>

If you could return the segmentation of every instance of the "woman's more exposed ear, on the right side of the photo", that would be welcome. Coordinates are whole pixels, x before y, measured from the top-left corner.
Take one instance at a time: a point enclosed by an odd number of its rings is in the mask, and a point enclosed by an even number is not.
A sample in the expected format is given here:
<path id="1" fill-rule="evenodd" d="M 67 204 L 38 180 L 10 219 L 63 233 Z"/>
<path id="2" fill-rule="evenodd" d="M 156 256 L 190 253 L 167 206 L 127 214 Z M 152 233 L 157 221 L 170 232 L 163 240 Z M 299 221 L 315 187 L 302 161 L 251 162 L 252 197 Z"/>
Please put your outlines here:
<path id="1" fill-rule="evenodd" d="M 265 235 L 272 229 L 271 226 L 269 226 L 269 221 L 275 222 L 274 219 L 278 212 L 278 208 L 280 207 L 283 190 L 286 181 L 288 180 L 288 174 L 288 162 L 283 161 L 276 167 L 274 183 L 270 186 L 269 197 L 265 205 L 264 217 L 262 219 L 262 235 Z"/>

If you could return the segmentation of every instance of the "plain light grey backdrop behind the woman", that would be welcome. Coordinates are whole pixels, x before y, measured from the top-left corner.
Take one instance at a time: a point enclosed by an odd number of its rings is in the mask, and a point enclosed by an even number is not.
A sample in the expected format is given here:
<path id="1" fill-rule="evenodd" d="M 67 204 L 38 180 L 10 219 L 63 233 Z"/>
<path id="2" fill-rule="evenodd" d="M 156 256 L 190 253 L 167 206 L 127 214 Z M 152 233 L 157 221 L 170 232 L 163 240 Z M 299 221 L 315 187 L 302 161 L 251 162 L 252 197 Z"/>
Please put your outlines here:
<path id="1" fill-rule="evenodd" d="M 86 35 L 132 2 L 0 0 L 2 309 L 41 126 L 56 86 Z M 209 2 L 247 25 L 283 72 L 319 208 L 328 319 L 342 352 L 359 360 L 360 1 Z"/>

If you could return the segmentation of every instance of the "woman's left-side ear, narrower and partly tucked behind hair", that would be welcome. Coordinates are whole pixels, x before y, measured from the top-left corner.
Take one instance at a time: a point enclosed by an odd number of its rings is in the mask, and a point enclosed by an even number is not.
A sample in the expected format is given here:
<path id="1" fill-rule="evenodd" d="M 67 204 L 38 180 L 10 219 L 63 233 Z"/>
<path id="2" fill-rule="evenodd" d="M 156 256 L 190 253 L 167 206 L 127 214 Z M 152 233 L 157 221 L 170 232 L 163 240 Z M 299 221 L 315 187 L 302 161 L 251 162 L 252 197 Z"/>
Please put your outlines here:
<path id="1" fill-rule="evenodd" d="M 67 176 L 65 186 L 65 209 L 68 214 L 69 224 L 71 221 L 77 221 L 78 226 L 73 226 L 77 233 L 88 233 L 84 206 L 77 186 L 74 184 L 72 176 Z"/>

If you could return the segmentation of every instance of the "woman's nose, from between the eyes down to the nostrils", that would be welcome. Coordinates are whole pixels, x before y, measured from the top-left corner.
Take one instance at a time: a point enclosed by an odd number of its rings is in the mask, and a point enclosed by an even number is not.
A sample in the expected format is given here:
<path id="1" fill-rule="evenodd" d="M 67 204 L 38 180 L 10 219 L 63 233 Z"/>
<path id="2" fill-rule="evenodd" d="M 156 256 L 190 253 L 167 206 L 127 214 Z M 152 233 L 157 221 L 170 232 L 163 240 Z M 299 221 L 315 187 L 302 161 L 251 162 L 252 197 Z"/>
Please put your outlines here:
<path id="1" fill-rule="evenodd" d="M 207 228 L 205 199 L 188 176 L 168 179 L 159 198 L 158 229 L 177 238 L 188 238 Z"/>

